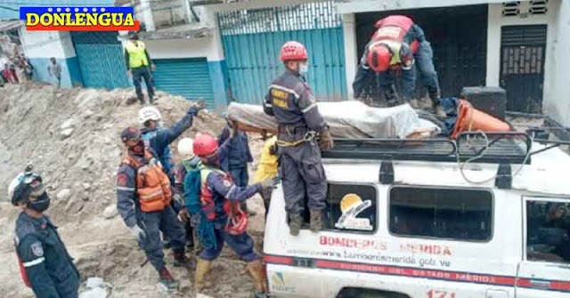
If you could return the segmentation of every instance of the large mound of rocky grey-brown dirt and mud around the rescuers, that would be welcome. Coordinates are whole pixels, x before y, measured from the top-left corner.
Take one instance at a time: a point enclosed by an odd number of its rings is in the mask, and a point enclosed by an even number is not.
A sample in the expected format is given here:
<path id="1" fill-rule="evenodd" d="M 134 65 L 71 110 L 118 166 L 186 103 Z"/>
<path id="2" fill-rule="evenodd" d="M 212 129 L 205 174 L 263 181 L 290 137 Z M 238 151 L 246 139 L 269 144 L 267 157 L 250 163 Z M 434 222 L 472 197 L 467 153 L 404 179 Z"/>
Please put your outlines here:
<path id="1" fill-rule="evenodd" d="M 193 104 L 167 93 L 157 95 L 156 107 L 162 113 L 165 125 L 174 125 Z M 129 98 L 134 98 L 135 104 L 126 105 Z M 16 173 L 31 162 L 57 198 L 48 213 L 59 227 L 61 238 L 77 262 L 81 276 L 112 281 L 111 288 L 104 287 L 107 297 L 164 297 L 165 294 L 156 287 L 158 274 L 151 264 L 142 266 L 146 257 L 117 216 L 115 173 L 125 152 L 119 135 L 126 126 L 138 125 L 137 113 L 141 109 L 134 90 L 74 88 L 56 93 L 51 85 L 6 85 L 0 93 L 0 108 L 3 107 L 9 109 L 0 109 L 0 123 L 3 124 L 0 194 L 6 193 Z M 217 135 L 223 126 L 221 117 L 201 111 L 183 137 L 193 137 L 197 132 Z M 69 132 L 65 132 L 63 138 L 65 130 Z M 175 146 L 173 143 L 172 147 Z M 176 154 L 175 149 L 173 154 Z M 178 160 L 175 156 L 175 162 Z M 0 221 L 0 262 L 8 264 L 0 266 L 0 275 L 10 277 L 0 284 L 0 293 L 7 297 L 31 298 L 34 296 L 31 290 L 23 285 L 19 274 L 14 273 L 18 272 L 18 263 L 12 238 L 18 213 L 20 210 L 5 198 L 4 203 L 0 202 L 0 219 L 3 219 Z M 256 221 L 260 219 L 260 222 L 252 222 L 251 227 L 263 229 L 263 213 L 258 214 L 261 215 L 256 216 Z M 259 236 L 255 238 L 256 242 L 260 241 Z M 165 256 L 173 275 L 182 284 L 180 291 L 168 296 L 193 297 L 193 271 L 174 268 L 170 251 L 165 251 Z M 206 294 L 234 298 L 250 296 L 254 286 L 250 278 L 242 274 L 244 264 L 235 254 L 224 249 L 214 266 L 219 270 L 219 284 L 224 284 L 223 278 L 228 278 L 232 292 L 228 295 L 227 289 L 214 287 Z M 103 294 L 100 290 L 89 290 L 82 286 L 81 292 Z"/>

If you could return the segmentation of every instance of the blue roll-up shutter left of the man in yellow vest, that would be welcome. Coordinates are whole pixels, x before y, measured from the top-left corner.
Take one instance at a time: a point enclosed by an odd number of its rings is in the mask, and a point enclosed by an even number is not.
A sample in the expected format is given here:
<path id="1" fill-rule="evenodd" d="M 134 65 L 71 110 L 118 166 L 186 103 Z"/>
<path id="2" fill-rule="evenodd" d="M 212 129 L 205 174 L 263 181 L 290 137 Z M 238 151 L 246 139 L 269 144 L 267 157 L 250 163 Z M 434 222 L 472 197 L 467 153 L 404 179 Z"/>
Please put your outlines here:
<path id="1" fill-rule="evenodd" d="M 117 32 L 72 32 L 71 38 L 85 87 L 114 89 L 131 85 Z"/>

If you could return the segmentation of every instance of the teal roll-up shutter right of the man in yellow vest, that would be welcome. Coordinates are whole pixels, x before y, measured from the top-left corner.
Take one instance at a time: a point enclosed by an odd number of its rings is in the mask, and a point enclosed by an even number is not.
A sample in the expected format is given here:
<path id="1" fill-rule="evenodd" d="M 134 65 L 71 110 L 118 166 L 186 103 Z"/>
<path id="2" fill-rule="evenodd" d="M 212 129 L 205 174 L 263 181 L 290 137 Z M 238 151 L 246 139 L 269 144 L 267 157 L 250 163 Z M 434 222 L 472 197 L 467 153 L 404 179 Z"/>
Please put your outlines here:
<path id="1" fill-rule="evenodd" d="M 206 58 L 154 59 L 152 73 L 157 90 L 181 95 L 188 100 L 203 99 L 214 108 L 214 91 Z"/>

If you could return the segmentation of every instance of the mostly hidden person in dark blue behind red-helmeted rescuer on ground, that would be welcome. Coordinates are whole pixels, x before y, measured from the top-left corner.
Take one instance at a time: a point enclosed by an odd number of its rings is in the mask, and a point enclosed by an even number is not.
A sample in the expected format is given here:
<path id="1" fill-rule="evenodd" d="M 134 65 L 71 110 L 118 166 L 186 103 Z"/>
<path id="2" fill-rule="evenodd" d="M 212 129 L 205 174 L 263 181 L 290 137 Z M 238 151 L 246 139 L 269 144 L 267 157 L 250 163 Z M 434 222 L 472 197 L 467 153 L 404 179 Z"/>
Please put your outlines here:
<path id="1" fill-rule="evenodd" d="M 218 144 L 224 143 L 224 141 L 230 139 L 231 131 L 234 129 L 232 120 L 226 119 L 227 125 L 222 130 L 222 133 L 217 138 Z M 249 175 L 248 175 L 248 163 L 253 163 L 253 156 L 251 155 L 251 150 L 249 149 L 248 134 L 244 132 L 237 132 L 234 138 L 228 142 L 228 155 L 227 158 L 222 158 L 222 170 L 224 172 L 230 173 L 232 175 L 233 182 L 244 188 L 248 186 Z M 240 202 L 241 210 L 247 211 L 248 205 L 245 201 Z"/>

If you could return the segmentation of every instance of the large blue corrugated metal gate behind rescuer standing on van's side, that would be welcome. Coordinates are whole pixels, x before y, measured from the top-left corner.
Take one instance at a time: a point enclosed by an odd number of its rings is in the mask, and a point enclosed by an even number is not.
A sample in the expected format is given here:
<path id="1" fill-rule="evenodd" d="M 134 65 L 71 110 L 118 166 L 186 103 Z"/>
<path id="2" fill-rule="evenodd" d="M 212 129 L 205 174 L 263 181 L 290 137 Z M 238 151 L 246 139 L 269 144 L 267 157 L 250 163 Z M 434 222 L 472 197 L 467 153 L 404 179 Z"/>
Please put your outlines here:
<path id="1" fill-rule="evenodd" d="M 218 13 L 235 101 L 261 103 L 284 70 L 279 52 L 289 40 L 309 53 L 306 79 L 320 101 L 347 99 L 340 16 L 332 2 Z"/>

